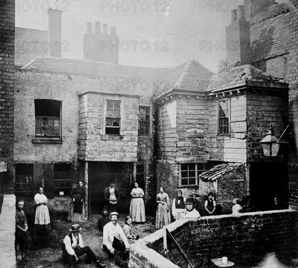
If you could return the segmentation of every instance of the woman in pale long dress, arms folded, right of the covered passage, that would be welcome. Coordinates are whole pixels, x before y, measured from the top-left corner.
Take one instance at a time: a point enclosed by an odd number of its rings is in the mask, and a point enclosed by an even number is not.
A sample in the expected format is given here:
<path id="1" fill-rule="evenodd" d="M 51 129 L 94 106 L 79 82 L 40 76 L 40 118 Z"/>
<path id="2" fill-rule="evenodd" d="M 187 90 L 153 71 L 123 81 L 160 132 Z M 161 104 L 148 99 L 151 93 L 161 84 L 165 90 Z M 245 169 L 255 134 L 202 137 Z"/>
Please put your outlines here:
<path id="1" fill-rule="evenodd" d="M 133 222 L 146 222 L 145 205 L 144 205 L 144 191 L 135 183 L 135 188 L 131 192 L 132 201 L 130 206 L 130 216 Z"/>

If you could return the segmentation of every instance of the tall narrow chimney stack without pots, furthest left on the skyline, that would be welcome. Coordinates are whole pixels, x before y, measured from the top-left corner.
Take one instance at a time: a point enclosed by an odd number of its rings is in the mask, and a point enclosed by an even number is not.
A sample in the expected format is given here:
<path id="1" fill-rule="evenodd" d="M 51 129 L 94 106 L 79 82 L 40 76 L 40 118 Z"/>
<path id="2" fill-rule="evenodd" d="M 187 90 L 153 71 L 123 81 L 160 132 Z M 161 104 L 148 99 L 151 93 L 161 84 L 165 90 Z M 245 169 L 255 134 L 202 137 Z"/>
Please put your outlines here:
<path id="1" fill-rule="evenodd" d="M 50 42 L 49 56 L 61 58 L 61 14 L 62 11 L 50 8 L 48 10 Z"/>

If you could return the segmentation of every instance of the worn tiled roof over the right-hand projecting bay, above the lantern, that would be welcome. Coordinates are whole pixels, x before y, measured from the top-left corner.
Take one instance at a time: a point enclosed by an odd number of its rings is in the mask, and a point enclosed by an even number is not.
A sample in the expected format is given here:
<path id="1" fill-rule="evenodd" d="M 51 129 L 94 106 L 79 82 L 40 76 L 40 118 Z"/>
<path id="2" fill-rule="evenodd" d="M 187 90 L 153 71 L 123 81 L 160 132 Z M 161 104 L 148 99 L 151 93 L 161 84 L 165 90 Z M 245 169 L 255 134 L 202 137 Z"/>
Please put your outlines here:
<path id="1" fill-rule="evenodd" d="M 229 65 L 210 80 L 210 91 L 219 91 L 226 88 L 236 87 L 246 81 L 285 83 L 282 78 L 271 76 L 249 64 L 240 65 L 240 62 Z"/>

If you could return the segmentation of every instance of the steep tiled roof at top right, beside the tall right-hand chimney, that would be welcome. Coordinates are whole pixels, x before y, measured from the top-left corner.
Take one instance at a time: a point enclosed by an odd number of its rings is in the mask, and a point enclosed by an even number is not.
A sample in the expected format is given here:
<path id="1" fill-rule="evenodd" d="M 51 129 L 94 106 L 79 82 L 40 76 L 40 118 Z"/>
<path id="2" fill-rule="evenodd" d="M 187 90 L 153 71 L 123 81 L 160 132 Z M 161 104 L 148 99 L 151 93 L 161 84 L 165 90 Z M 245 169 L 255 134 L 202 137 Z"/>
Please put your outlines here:
<path id="1" fill-rule="evenodd" d="M 251 20 L 251 61 L 289 53 L 289 4 L 275 4 Z"/>

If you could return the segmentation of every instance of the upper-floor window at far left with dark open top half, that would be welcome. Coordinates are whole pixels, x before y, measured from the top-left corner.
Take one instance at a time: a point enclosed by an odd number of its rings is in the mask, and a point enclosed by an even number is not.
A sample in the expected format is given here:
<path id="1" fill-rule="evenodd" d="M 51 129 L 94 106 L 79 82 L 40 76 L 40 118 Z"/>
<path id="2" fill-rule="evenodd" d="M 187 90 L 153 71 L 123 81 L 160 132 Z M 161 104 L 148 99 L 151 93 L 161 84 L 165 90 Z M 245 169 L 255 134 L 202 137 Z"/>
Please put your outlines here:
<path id="1" fill-rule="evenodd" d="M 35 136 L 38 138 L 61 137 L 61 101 L 35 99 Z"/>

